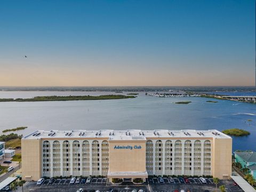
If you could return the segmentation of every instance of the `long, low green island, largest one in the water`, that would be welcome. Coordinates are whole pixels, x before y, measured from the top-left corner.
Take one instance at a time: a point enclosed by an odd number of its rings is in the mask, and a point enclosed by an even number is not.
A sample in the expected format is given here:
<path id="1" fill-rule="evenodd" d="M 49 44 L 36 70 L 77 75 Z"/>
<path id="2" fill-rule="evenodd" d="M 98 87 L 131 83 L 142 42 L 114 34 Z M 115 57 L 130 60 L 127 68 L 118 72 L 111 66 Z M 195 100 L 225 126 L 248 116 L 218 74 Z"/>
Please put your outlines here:
<path id="1" fill-rule="evenodd" d="M 77 100 L 107 100 L 107 99 L 130 99 L 136 98 L 133 95 L 98 95 L 98 96 L 91 96 L 91 95 L 69 95 L 69 96 L 40 96 L 34 98 L 27 98 L 27 99 L 0 99 L 0 102 L 6 101 L 17 101 L 17 102 L 25 102 L 25 101 L 77 101 Z"/>

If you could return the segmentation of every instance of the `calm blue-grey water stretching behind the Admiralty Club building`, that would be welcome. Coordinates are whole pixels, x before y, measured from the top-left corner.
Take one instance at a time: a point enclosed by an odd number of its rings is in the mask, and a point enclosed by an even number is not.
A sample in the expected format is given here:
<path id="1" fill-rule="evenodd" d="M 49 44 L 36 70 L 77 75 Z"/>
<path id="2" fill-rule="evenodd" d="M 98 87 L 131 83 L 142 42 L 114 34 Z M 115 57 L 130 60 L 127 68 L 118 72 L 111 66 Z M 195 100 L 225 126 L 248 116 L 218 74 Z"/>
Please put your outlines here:
<path id="1" fill-rule="evenodd" d="M 0 98 L 39 95 L 100 95 L 114 92 L 0 92 Z M 125 94 L 125 92 L 123 93 Z M 233 139 L 233 150 L 256 150 L 256 105 L 206 98 L 156 98 L 141 92 L 138 98 L 97 101 L 0 102 L 0 130 L 28 126 L 35 130 L 99 129 L 245 129 L 247 137 Z M 178 105 L 177 101 L 192 101 Z M 252 119 L 248 122 L 247 119 Z"/>

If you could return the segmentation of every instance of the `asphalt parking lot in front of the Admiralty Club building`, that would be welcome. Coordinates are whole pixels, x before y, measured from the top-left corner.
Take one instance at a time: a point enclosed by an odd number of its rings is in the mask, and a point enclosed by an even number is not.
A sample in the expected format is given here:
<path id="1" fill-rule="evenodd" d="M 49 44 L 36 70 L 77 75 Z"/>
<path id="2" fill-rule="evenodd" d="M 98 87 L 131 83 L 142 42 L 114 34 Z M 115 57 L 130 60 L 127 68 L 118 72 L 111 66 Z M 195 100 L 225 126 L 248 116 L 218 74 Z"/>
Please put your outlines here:
<path id="1" fill-rule="evenodd" d="M 113 189 L 113 192 L 130 192 L 133 189 L 137 191 L 142 189 L 143 191 L 170 191 L 173 192 L 175 189 L 179 191 L 184 189 L 185 191 L 193 191 L 193 192 L 203 192 L 205 190 L 214 191 L 215 184 L 212 179 L 207 179 L 207 183 L 202 183 L 198 178 L 188 178 L 189 182 L 181 182 L 179 178 L 173 178 L 174 182 L 170 182 L 169 178 L 163 178 L 164 182 L 159 182 L 158 178 L 148 179 L 143 185 L 134 185 L 131 182 L 122 183 L 122 185 L 107 185 L 106 178 L 93 178 L 90 183 L 79 183 L 79 184 L 70 184 L 71 179 L 57 179 L 52 184 L 49 183 L 50 180 L 45 180 L 42 185 L 37 186 L 35 181 L 27 182 L 24 186 L 25 191 L 38 191 L 38 192 L 68 192 L 74 191 L 82 188 L 84 191 L 90 192 L 92 190 L 99 190 L 100 192 L 110 191 L 109 189 Z M 239 187 L 233 185 L 233 180 L 220 180 L 220 185 L 226 186 L 227 192 L 242 192 L 243 190 Z"/>

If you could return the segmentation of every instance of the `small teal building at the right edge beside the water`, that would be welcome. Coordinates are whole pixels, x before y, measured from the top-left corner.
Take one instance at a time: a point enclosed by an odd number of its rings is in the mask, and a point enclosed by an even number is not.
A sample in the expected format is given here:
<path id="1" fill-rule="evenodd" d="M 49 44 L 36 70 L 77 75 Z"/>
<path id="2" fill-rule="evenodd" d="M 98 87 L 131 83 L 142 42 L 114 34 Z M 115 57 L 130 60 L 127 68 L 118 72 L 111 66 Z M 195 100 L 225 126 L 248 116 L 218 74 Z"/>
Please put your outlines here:
<path id="1" fill-rule="evenodd" d="M 235 151 L 235 162 L 248 168 L 249 173 L 256 179 L 256 153 L 254 151 Z"/>

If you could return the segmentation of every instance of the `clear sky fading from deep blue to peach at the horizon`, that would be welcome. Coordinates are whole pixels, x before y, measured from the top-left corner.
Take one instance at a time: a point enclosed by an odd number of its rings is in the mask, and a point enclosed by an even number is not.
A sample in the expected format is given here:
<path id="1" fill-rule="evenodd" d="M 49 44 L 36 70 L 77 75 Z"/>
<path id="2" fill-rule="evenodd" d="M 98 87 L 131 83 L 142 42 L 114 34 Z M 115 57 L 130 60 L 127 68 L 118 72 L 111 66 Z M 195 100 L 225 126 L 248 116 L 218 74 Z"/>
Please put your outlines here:
<path id="1" fill-rule="evenodd" d="M 254 0 L 0 0 L 0 86 L 254 79 Z"/>

